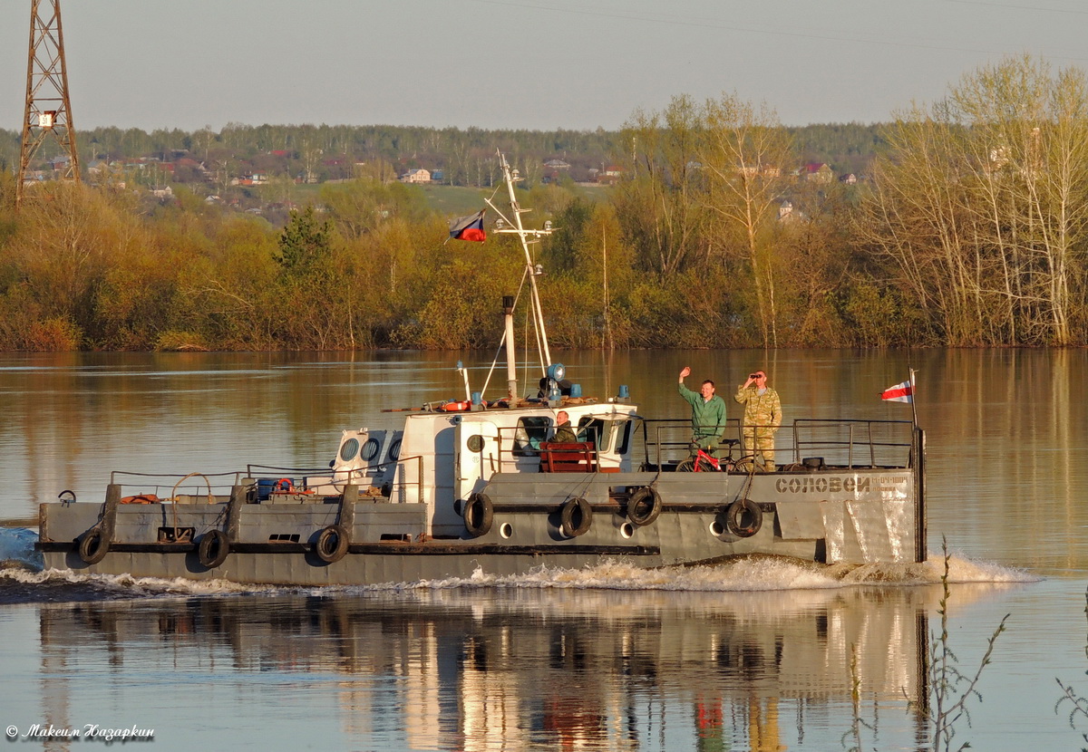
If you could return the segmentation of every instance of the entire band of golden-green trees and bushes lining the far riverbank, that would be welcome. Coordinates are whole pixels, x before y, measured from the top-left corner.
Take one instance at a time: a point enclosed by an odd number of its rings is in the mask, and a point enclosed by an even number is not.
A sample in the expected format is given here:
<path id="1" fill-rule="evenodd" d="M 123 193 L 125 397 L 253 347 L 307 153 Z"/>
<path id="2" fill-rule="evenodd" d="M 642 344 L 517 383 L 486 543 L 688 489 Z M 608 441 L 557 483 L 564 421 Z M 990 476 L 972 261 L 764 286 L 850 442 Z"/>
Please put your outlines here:
<path id="1" fill-rule="evenodd" d="M 856 185 L 799 176 L 796 133 L 735 97 L 636 112 L 618 142 L 603 200 L 521 189 L 532 223 L 557 228 L 533 260 L 555 346 L 1088 342 L 1077 68 L 1022 58 L 965 76 L 882 128 Z M 15 214 L 4 173 L 0 348 L 493 347 L 520 249 L 447 242 L 447 217 L 392 173 L 322 186 L 285 227 L 185 189 L 148 211 L 46 184 Z"/>

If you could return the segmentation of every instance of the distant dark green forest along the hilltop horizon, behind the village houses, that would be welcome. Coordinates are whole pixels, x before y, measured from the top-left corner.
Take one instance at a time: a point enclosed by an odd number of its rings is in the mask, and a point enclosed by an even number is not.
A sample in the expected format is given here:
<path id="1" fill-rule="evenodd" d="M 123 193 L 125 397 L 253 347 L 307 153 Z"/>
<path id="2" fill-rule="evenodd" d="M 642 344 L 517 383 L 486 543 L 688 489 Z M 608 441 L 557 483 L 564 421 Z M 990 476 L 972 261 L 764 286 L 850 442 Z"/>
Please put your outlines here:
<path id="1" fill-rule="evenodd" d="M 879 126 L 861 124 L 809 125 L 790 129 L 806 162 L 828 163 L 838 173 L 864 173 L 879 146 Z M 319 180 L 353 174 L 356 161 L 382 161 L 398 173 L 412 167 L 440 170 L 442 183 L 493 186 L 498 179 L 495 151 L 502 150 L 523 175 L 539 179 L 544 160 L 561 158 L 571 174 L 588 179 L 590 168 L 602 170 L 622 151 L 622 134 L 596 130 L 484 130 L 411 126 L 333 126 L 227 124 L 219 131 L 99 127 L 77 130 L 76 146 L 86 170 L 97 161 L 154 158 L 172 162 L 181 155 L 209 171 L 237 177 L 248 170 Z M 0 129 L 0 170 L 18 165 L 20 134 Z M 59 154 L 52 141 L 38 153 L 40 167 Z M 330 164 L 335 163 L 335 166 Z M 186 173 L 187 174 L 187 173 Z M 190 181 L 183 173 L 177 181 Z"/>

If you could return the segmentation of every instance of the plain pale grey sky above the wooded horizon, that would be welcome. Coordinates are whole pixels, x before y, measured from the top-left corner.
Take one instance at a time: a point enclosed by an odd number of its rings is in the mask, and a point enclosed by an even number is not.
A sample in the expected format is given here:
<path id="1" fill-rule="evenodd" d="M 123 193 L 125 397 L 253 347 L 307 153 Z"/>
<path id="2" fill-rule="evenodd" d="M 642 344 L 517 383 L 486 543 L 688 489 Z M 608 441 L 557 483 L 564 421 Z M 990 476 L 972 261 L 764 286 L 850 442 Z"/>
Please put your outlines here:
<path id="1" fill-rule="evenodd" d="M 49 8 L 51 0 L 41 0 Z M 61 0 L 76 129 L 619 128 L 735 92 L 787 125 L 886 122 L 1029 53 L 1088 68 L 1081 0 Z M 22 128 L 30 0 L 0 3 Z"/>

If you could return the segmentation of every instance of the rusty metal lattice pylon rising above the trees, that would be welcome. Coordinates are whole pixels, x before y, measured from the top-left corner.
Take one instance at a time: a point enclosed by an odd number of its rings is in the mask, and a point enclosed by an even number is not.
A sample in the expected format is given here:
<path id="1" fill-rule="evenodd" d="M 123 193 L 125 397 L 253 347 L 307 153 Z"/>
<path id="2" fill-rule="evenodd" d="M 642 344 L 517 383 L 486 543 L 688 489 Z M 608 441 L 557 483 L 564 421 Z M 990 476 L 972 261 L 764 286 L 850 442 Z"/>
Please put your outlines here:
<path id="1" fill-rule="evenodd" d="M 48 13 L 42 14 L 42 7 Z M 72 103 L 69 100 L 67 70 L 64 64 L 64 34 L 61 30 L 60 0 L 32 0 L 30 49 L 26 61 L 26 111 L 23 116 L 22 152 L 15 203 L 23 200 L 30 162 L 48 140 L 55 140 L 67 156 L 60 170 L 62 180 L 79 181 L 79 155 L 75 148 Z"/>

